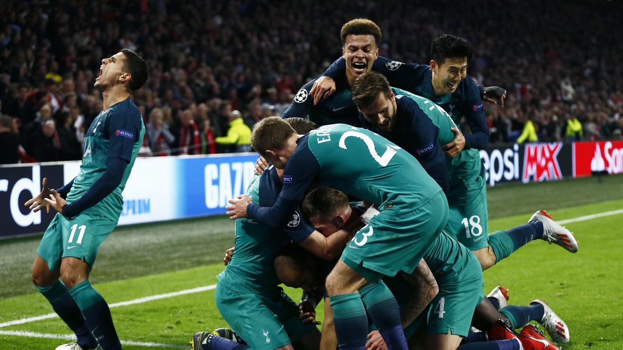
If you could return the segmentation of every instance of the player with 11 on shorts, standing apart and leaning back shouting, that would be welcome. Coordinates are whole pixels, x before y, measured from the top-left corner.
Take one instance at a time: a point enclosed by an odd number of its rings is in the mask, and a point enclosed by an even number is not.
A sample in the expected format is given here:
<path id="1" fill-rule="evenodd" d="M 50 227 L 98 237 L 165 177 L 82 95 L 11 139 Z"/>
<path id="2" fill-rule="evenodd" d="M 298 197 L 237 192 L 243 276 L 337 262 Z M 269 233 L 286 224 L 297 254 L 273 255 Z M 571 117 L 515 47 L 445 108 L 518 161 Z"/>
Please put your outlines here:
<path id="1" fill-rule="evenodd" d="M 130 96 L 147 76 L 145 61 L 131 50 L 102 60 L 95 87 L 102 92 L 103 111 L 85 134 L 80 173 L 58 191 L 47 189 L 44 179 L 39 196 L 26 202 L 35 211 L 58 212 L 32 266 L 37 290 L 77 337 L 57 350 L 121 349 L 108 305 L 88 275 L 100 244 L 117 225 L 121 192 L 143 144 L 143 118 Z"/>

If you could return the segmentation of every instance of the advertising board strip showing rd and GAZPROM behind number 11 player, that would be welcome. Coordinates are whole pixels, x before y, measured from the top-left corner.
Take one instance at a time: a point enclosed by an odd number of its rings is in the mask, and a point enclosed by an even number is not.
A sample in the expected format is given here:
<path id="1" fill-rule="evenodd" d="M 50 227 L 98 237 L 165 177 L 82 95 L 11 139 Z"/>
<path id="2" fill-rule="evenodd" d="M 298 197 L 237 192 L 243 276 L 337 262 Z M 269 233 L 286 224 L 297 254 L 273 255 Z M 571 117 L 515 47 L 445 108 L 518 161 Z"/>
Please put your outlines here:
<path id="1" fill-rule="evenodd" d="M 254 174 L 255 153 L 137 158 L 123 190 L 120 225 L 225 214 Z M 80 161 L 0 167 L 0 237 L 44 232 L 54 213 L 32 212 L 24 202 L 41 181 L 59 188 L 77 176 Z"/>

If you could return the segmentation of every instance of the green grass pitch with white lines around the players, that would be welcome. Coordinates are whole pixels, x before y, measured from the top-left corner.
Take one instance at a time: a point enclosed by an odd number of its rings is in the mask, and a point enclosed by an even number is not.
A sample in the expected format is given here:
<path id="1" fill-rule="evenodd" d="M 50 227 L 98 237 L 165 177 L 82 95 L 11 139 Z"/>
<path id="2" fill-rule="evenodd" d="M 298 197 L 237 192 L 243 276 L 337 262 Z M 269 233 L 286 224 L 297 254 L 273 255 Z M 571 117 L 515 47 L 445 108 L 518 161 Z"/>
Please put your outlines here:
<path id="1" fill-rule="evenodd" d="M 623 209 L 623 177 L 495 187 L 488 199 L 491 231 L 522 224 L 537 209 L 568 220 Z M 572 340 L 563 349 L 623 349 L 622 226 L 623 213 L 571 222 L 567 227 L 579 241 L 578 253 L 531 242 L 484 273 L 485 292 L 502 284 L 515 305 L 544 299 L 570 328 Z M 53 313 L 30 281 L 39 239 L 0 241 L 2 350 L 54 349 L 70 336 L 56 317 L 24 321 Z M 128 342 L 124 348 L 186 348 L 197 331 L 225 326 L 212 288 L 233 240 L 233 224 L 226 217 L 115 230 L 100 248 L 91 281 L 112 305 L 117 332 Z M 194 290 L 199 287 L 205 288 Z M 287 291 L 300 298 L 300 291 Z M 115 305 L 149 296 L 158 297 Z M 321 321 L 322 305 L 317 311 Z M 21 323 L 7 324 L 16 320 Z"/>

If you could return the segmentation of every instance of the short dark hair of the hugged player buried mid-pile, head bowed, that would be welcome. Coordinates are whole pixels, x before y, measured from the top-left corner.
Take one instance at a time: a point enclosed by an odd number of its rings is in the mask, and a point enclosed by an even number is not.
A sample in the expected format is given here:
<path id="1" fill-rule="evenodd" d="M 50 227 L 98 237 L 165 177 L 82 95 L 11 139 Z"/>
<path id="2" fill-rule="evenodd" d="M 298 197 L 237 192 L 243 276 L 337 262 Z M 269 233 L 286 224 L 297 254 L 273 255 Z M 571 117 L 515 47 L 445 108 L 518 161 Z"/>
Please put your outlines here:
<path id="1" fill-rule="evenodd" d="M 325 219 L 331 217 L 344 206 L 348 206 L 348 196 L 344 192 L 331 187 L 320 186 L 305 196 L 302 209 L 307 219 L 317 216 Z"/>

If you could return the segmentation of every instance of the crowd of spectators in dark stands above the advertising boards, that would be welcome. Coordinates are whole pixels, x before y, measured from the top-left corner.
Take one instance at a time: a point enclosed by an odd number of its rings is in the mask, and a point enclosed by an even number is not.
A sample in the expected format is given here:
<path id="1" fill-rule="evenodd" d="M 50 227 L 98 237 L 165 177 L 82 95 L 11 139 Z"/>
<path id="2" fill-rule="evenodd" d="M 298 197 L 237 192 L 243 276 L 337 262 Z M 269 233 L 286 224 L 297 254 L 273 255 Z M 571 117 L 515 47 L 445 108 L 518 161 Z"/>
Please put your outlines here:
<path id="1" fill-rule="evenodd" d="M 330 16 L 331 8 L 339 8 Z M 619 10 L 617 10 L 619 8 Z M 341 24 L 368 17 L 379 54 L 427 64 L 446 32 L 474 49 L 468 74 L 508 90 L 487 105 L 492 142 L 621 138 L 621 4 L 440 0 L 11 1 L 0 11 L 0 163 L 80 159 L 98 115 L 101 57 L 136 50 L 150 80 L 134 95 L 145 156 L 249 150 L 249 127 L 340 56 Z M 527 141 L 530 141 L 528 139 Z"/>

